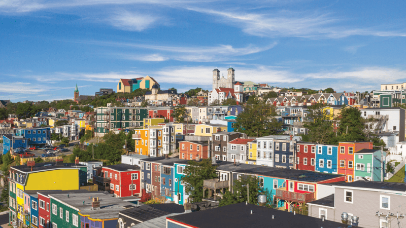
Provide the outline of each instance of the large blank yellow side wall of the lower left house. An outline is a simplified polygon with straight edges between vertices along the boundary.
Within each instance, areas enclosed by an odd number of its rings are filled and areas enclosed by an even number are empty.
[[[79,169],[58,169],[30,173],[25,184],[26,191],[73,189],[79,189]]]

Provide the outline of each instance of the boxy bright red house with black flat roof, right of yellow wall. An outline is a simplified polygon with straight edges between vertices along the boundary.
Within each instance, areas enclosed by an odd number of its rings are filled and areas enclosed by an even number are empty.
[[[140,196],[140,170],[139,166],[126,164],[101,166],[101,177],[93,175],[93,183],[100,182],[97,178],[110,180],[110,193],[114,197]]]

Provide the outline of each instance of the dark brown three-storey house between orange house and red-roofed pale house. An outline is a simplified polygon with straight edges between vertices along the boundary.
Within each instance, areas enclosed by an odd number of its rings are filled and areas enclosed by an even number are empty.
[[[236,138],[247,138],[246,134],[240,132],[215,132],[212,134],[212,151],[213,155],[210,157],[215,157],[217,161],[227,161],[228,153],[228,142]]]

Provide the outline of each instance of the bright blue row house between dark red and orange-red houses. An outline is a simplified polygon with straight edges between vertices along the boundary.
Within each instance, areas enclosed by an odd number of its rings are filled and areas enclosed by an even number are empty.
[[[338,145],[316,145],[316,165],[315,171],[322,173],[337,174]]]

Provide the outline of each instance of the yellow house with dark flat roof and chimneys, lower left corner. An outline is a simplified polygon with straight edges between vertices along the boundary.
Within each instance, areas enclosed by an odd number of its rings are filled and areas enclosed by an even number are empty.
[[[85,166],[65,166],[62,162],[60,165],[37,163],[32,166],[32,169],[27,165],[10,167],[9,184],[13,191],[10,191],[9,196],[17,204],[16,217],[24,220],[24,191],[79,189],[81,167]],[[87,179],[87,173],[85,176]]]

